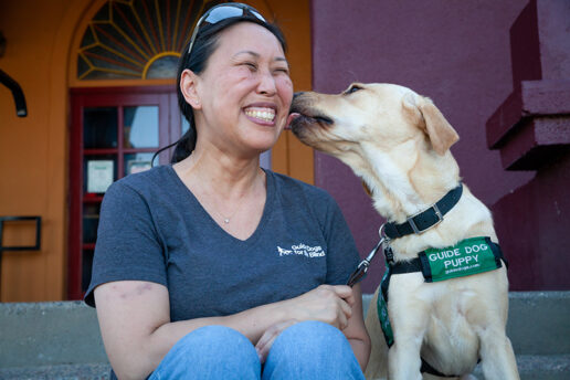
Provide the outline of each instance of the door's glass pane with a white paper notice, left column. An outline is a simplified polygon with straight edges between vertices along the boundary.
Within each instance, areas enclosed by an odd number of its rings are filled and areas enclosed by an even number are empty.
[[[116,155],[85,156],[83,191],[86,197],[103,194],[115,180],[117,180]]]

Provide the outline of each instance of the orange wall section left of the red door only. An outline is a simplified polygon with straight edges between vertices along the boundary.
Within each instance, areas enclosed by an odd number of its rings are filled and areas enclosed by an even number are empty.
[[[0,215],[43,218],[41,251],[3,254],[2,302],[64,295],[67,48],[73,20],[87,3],[19,0],[0,6],[8,41],[0,67],[22,86],[29,112],[18,118],[11,93],[0,87]],[[18,231],[11,230],[4,239],[15,243]]]

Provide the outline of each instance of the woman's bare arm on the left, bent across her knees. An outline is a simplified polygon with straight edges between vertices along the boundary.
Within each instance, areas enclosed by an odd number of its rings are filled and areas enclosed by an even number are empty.
[[[163,285],[120,281],[95,288],[105,350],[119,379],[145,379],[179,339],[208,325],[234,328],[254,345],[270,326],[288,319],[321,320],[342,328],[353,324],[349,321],[353,319],[351,307],[345,300],[351,296],[347,286],[321,285],[299,297],[231,316],[171,323],[168,289]],[[361,319],[361,312],[359,315]],[[350,339],[358,341],[358,328],[349,331]]]

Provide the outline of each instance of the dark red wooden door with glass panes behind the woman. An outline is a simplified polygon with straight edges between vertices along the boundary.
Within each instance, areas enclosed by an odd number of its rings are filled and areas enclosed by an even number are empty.
[[[183,126],[173,86],[73,88],[71,107],[67,297],[81,299],[106,188],[150,168],[154,152],[178,140]]]

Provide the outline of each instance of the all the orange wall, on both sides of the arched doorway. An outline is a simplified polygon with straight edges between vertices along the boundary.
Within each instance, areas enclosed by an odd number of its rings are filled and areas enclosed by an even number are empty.
[[[0,28],[8,41],[0,68],[19,82],[29,112],[25,118],[17,117],[10,91],[0,86],[0,215],[43,219],[41,251],[3,254],[1,302],[59,300],[66,294],[68,87],[80,85],[68,81],[73,77],[68,74],[75,70],[75,36],[101,3],[0,2]],[[310,88],[309,1],[250,3],[266,15],[277,14],[289,44],[295,88]],[[274,148],[273,165],[276,171],[314,182],[313,151],[299,145],[291,131]],[[31,244],[30,229],[9,228],[4,240],[14,245]]]

